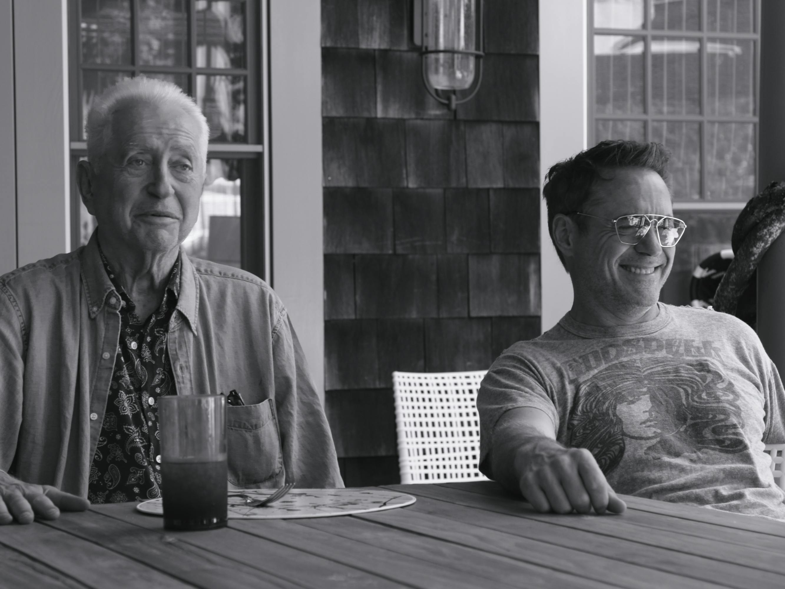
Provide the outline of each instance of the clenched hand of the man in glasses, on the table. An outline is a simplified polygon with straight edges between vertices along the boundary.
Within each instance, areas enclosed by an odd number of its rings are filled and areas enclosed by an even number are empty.
[[[622,514],[626,504],[616,496],[597,460],[586,448],[564,448],[542,437],[532,440],[516,459],[520,492],[531,506],[546,513]]]

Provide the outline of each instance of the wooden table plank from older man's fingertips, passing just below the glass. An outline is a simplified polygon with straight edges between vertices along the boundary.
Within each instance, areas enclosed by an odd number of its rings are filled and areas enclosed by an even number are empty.
[[[64,513],[47,526],[71,536],[97,543],[110,551],[125,554],[149,569],[177,577],[193,587],[300,587],[248,565],[233,562],[214,552],[184,543],[158,532],[140,528],[102,515],[92,509],[84,513]],[[137,567],[141,569],[141,567]],[[105,587],[105,584],[104,586]],[[139,585],[137,585],[139,587]],[[155,587],[155,585],[153,585]]]

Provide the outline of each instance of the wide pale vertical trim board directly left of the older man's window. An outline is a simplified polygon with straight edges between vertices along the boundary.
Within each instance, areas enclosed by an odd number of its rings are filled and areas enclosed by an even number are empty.
[[[18,263],[71,250],[67,0],[14,0]]]

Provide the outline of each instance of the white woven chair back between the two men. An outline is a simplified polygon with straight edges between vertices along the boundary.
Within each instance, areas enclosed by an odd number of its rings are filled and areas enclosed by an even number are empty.
[[[485,370],[393,372],[400,481],[487,481],[477,470],[476,398]]]

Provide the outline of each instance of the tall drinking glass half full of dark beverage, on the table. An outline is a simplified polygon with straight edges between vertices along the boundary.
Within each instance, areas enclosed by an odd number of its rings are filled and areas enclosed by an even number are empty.
[[[164,529],[226,525],[226,399],[159,398]]]

